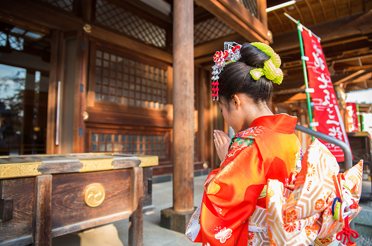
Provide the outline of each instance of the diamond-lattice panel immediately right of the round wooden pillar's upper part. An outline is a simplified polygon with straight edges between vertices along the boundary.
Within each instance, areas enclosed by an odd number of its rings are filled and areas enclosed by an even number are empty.
[[[210,40],[225,37],[235,31],[217,17],[194,25],[194,44],[201,44]]]

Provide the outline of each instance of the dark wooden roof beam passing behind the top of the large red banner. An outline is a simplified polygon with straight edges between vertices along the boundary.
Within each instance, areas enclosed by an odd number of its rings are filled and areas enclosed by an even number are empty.
[[[310,26],[308,28],[314,34],[319,36],[322,39],[322,43],[324,43],[351,36],[367,35],[372,33],[372,29],[370,29],[371,24],[372,11],[367,11],[316,26]],[[297,30],[276,35],[271,47],[276,53],[299,49],[300,42]]]

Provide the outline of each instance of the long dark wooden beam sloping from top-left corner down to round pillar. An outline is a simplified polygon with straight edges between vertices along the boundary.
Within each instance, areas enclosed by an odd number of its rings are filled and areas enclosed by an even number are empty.
[[[25,8],[25,6],[27,6],[27,8]],[[14,19],[40,25],[48,30],[61,30],[65,32],[81,30],[84,24],[86,24],[86,22],[83,22],[77,17],[58,12],[28,0],[3,1],[2,11],[7,12],[9,15],[13,16]],[[39,13],[43,13],[43,15]],[[92,23],[89,25],[92,28],[91,33],[88,34],[89,36],[130,50],[138,50],[140,53],[146,54],[147,56],[172,63],[172,55],[159,48],[114,33],[110,31],[110,28],[102,28]]]

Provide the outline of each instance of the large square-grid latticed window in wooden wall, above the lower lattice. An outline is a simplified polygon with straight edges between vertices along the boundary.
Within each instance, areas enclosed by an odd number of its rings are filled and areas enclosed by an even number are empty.
[[[96,50],[95,100],[165,110],[164,69]]]

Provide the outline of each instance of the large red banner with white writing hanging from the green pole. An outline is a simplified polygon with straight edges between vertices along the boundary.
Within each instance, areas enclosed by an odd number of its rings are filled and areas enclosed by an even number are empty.
[[[304,39],[305,56],[309,58],[306,61],[309,87],[315,90],[314,93],[311,93],[311,96],[314,102],[315,122],[319,124],[316,129],[320,133],[337,138],[349,145],[320,40],[305,30],[302,31],[302,37]],[[320,142],[331,151],[338,162],[344,161],[344,154],[340,147],[322,140]]]

